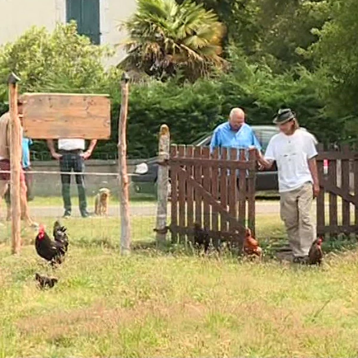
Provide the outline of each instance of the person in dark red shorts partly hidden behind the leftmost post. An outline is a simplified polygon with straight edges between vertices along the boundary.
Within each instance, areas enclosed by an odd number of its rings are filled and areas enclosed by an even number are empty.
[[[22,102],[19,100],[18,113],[21,119]],[[22,128],[21,128],[22,130]],[[21,133],[22,137],[22,133]],[[0,201],[4,198],[6,190],[10,184],[10,113],[6,112],[0,117]],[[30,227],[38,227],[29,215],[26,194],[27,188],[25,184],[25,175],[23,169],[20,172],[20,205],[21,217]],[[9,213],[8,213],[9,214]]]

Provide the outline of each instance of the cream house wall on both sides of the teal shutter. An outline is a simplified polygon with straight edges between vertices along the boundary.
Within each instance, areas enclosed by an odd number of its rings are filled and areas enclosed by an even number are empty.
[[[100,0],[101,44],[114,46],[126,38],[118,26],[135,8],[135,0]],[[52,31],[57,22],[66,21],[66,0],[0,0],[0,9],[0,44],[13,42],[33,25]],[[124,56],[124,50],[117,48],[105,63],[117,64]]]

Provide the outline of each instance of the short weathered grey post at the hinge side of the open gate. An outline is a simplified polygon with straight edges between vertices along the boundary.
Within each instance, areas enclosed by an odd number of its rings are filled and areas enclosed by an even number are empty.
[[[166,239],[166,217],[168,209],[169,167],[160,165],[169,159],[170,132],[166,124],[160,126],[159,131],[159,167],[158,167],[158,204],[156,215],[156,241],[164,242]]]

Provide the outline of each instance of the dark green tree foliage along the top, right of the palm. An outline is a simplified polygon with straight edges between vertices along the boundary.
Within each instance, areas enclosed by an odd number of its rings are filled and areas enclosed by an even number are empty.
[[[182,0],[177,0],[179,3]],[[226,44],[240,45],[251,62],[264,62],[282,73],[296,64],[311,67],[304,57],[329,17],[325,0],[195,0],[213,9],[227,26]]]

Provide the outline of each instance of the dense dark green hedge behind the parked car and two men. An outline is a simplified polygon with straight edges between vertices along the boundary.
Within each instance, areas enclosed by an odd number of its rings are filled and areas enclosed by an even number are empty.
[[[111,139],[100,141],[96,152],[115,156],[121,98],[118,91],[111,96]],[[249,124],[271,124],[277,108],[289,106],[296,111],[300,124],[319,140],[344,139],[340,121],[322,115],[323,105],[308,79],[293,81],[291,74],[273,78],[248,66],[237,73],[194,84],[172,80],[130,86],[128,155],[130,158],[156,155],[158,131],[163,123],[168,124],[174,142],[190,144],[226,121],[231,108],[237,106],[245,108]],[[6,107],[0,104],[0,109]],[[48,152],[44,141],[36,141],[33,150]]]

